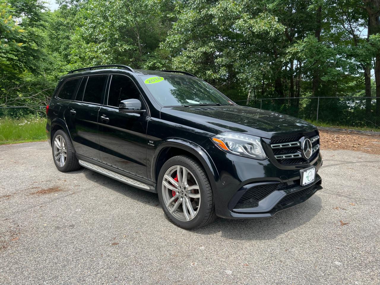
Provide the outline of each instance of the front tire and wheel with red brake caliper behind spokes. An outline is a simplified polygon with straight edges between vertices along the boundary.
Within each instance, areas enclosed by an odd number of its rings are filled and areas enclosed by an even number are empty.
[[[180,181],[185,181],[182,176],[187,177],[185,184],[182,184],[184,187],[178,185]],[[178,182],[178,186],[173,180]],[[216,218],[214,198],[207,174],[198,161],[191,157],[178,155],[164,163],[158,175],[157,192],[166,217],[180,228],[199,228],[212,223]],[[168,203],[169,206],[166,206]]]

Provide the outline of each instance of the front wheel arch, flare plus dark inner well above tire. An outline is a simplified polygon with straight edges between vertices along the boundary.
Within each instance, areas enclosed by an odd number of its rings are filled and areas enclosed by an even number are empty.
[[[157,147],[151,167],[154,182],[157,182],[158,174],[165,161],[176,155],[189,155],[199,161],[210,179],[212,188],[216,186],[215,181],[218,180],[219,174],[206,150],[194,142],[177,138],[169,138]]]

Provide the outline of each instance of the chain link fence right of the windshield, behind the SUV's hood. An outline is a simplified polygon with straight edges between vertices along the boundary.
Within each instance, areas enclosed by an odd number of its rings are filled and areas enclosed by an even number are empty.
[[[242,106],[287,114],[316,125],[380,129],[374,97],[296,97],[235,101]]]

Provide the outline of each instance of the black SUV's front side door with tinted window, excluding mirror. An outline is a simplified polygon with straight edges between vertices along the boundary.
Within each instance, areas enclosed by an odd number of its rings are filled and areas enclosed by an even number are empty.
[[[99,141],[101,161],[129,173],[147,178],[147,111],[144,114],[120,113],[120,101],[139,99],[147,110],[135,82],[128,76],[114,74],[100,108]]]

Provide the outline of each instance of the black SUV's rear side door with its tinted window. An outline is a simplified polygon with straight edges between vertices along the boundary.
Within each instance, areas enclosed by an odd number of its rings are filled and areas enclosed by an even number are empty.
[[[77,154],[100,160],[98,112],[105,94],[108,75],[82,78],[66,112],[66,122]]]

